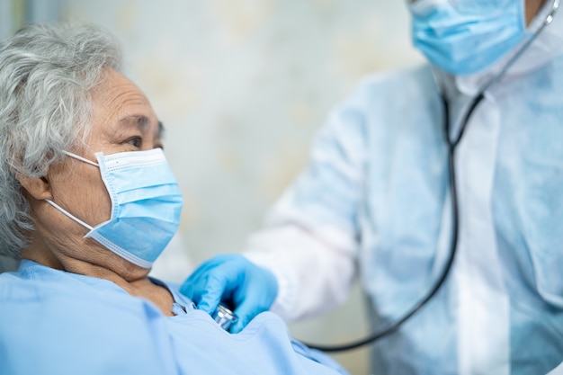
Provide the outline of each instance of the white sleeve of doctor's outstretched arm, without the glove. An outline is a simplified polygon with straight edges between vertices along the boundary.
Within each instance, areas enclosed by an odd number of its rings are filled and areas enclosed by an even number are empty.
[[[286,320],[344,302],[360,240],[367,100],[359,90],[331,112],[306,169],[249,237],[246,256],[271,270],[279,293],[272,310]]]

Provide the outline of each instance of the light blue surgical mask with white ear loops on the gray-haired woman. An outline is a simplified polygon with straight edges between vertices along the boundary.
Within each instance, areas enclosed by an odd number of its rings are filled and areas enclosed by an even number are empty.
[[[65,151],[67,156],[100,168],[112,200],[112,216],[95,227],[53,201],[49,204],[90,231],[113,253],[150,268],[168,245],[180,223],[182,193],[161,148],[95,156],[98,163]]]

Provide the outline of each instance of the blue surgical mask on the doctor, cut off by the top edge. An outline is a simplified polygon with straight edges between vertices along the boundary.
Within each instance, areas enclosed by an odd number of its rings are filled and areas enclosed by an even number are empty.
[[[491,66],[527,36],[524,0],[417,0],[409,8],[415,47],[453,75]]]

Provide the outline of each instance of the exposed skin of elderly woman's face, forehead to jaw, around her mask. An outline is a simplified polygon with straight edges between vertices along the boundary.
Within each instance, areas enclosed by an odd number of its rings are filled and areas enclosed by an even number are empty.
[[[92,93],[92,103],[87,146],[68,151],[97,163],[96,152],[110,155],[162,147],[162,124],[145,94],[121,73],[108,69],[107,78]],[[66,157],[64,162],[51,166],[46,177],[51,200],[77,219],[92,227],[110,219],[112,202],[97,166]],[[55,244],[55,252],[88,263],[102,260],[106,266],[123,263],[93,239],[84,238],[87,228],[49,205],[42,207],[38,211],[38,228]]]

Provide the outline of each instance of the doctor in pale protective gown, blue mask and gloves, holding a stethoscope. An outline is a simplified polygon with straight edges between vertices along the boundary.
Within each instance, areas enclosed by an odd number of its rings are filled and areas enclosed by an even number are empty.
[[[354,277],[380,374],[545,374],[563,362],[563,11],[557,0],[416,0],[430,65],[366,77],[244,256],[183,293],[242,326],[342,303]],[[455,256],[454,256],[455,255]],[[451,267],[449,263],[451,262]],[[447,277],[446,277],[447,276]],[[556,370],[557,371],[557,370]],[[560,366],[563,372],[563,366]]]

